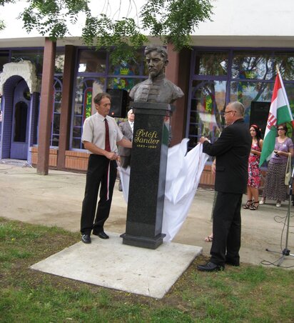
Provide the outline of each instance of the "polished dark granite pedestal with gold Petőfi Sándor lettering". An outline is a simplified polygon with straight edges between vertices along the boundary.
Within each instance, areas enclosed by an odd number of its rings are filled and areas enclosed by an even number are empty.
[[[131,174],[126,233],[123,244],[156,249],[161,233],[166,184],[166,163],[171,106],[132,102],[133,129]]]

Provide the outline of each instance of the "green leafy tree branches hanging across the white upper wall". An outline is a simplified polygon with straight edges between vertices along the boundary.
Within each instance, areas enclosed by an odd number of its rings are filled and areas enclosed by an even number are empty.
[[[136,8],[136,0],[119,1],[122,8]],[[0,0],[0,5],[14,0]],[[173,43],[177,51],[189,47],[190,34],[201,21],[210,20],[210,0],[146,0],[135,18],[115,19],[103,9],[111,7],[110,0],[98,0],[101,14],[93,16],[88,0],[28,0],[28,6],[19,15],[26,31],[38,31],[52,40],[69,34],[69,25],[85,19],[81,31],[88,46],[116,47],[113,55],[129,56],[148,43],[148,36],[160,38],[163,44]],[[113,3],[112,3],[113,4]],[[81,22],[81,21],[79,21]],[[131,51],[130,51],[131,50]]]

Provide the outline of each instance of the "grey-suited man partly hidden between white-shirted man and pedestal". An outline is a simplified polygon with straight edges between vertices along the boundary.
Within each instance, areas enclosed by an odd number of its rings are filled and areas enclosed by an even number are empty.
[[[128,110],[128,121],[121,122],[118,124],[123,136],[132,141],[133,139],[133,123],[135,121],[135,114],[133,109]],[[123,168],[127,168],[131,165],[131,149],[125,148],[123,146],[118,147],[118,155],[120,156],[120,165]],[[123,189],[121,187],[121,179],[119,180],[118,190],[121,192]]]

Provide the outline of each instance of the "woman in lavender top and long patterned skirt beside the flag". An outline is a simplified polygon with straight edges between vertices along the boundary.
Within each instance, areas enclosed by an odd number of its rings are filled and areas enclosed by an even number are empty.
[[[278,136],[275,138],[274,154],[268,163],[268,172],[263,189],[263,199],[260,205],[265,203],[265,199],[275,199],[276,207],[281,206],[285,201],[287,194],[287,185],[285,185],[285,172],[289,154],[293,156],[293,141],[286,136],[286,124],[278,125]]]

